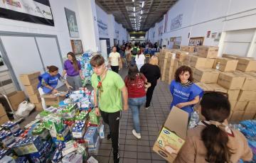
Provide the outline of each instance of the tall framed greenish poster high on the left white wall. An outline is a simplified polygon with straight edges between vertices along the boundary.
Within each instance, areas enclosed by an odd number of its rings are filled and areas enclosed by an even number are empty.
[[[65,8],[65,15],[68,22],[70,38],[79,38],[78,23],[76,21],[75,12]]]

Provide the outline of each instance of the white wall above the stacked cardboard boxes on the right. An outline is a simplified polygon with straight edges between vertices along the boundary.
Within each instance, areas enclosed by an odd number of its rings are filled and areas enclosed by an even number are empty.
[[[182,26],[171,30],[171,20],[183,14]],[[256,28],[256,1],[255,0],[180,0],[169,9],[164,16],[165,24],[167,16],[167,28],[161,38],[182,37],[181,45],[188,45],[188,33],[190,38],[205,37],[203,45],[219,45],[214,38],[206,38],[207,31],[222,33],[230,30],[244,30]],[[157,23],[156,23],[157,25]],[[149,29],[149,40],[152,38],[156,26]],[[238,54],[239,55],[239,54]],[[244,55],[244,54],[240,54]],[[256,57],[256,54],[253,54]]]

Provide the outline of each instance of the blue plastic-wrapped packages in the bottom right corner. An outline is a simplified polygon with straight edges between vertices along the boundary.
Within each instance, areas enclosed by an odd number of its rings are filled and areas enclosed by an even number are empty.
[[[245,135],[252,149],[253,157],[251,162],[256,162],[256,120],[243,120],[240,123],[230,125],[230,127],[240,130]]]

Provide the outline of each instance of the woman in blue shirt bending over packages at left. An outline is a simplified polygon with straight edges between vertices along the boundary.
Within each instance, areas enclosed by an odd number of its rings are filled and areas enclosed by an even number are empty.
[[[55,87],[58,85],[58,80],[63,81],[68,89],[72,89],[73,87],[68,84],[68,82],[61,77],[58,73],[58,67],[49,66],[47,67],[48,72],[41,74],[38,77],[39,84],[38,84],[38,91],[40,95],[43,94],[56,94],[58,93]],[[44,98],[41,98],[43,109],[46,109],[46,101]]]

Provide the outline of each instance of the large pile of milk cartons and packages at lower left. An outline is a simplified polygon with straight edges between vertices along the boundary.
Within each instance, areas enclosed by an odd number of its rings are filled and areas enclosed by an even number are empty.
[[[92,109],[92,94],[85,88],[73,91],[58,106],[41,111],[25,130],[12,122],[1,125],[0,162],[82,163],[97,155],[105,134],[102,118]]]

